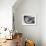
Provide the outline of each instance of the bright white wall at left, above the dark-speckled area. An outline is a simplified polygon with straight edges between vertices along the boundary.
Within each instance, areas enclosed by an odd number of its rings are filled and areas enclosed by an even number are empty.
[[[0,0],[0,27],[12,28],[12,6],[16,0]]]

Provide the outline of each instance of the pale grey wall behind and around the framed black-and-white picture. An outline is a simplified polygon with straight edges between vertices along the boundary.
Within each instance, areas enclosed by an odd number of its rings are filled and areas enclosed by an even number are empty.
[[[41,46],[41,0],[23,0],[17,8],[13,7],[13,11],[18,32],[23,33],[24,39],[31,39],[36,46]],[[25,13],[36,16],[36,25],[22,25],[22,16]]]

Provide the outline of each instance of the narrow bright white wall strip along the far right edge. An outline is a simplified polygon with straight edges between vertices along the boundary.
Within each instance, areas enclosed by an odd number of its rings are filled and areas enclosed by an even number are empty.
[[[41,1],[41,42],[42,46],[46,46],[46,0]]]

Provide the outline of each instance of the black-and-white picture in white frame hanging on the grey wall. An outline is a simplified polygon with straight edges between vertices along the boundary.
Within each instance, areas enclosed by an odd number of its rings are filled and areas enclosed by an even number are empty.
[[[23,15],[22,16],[22,25],[36,25],[36,16]]]

